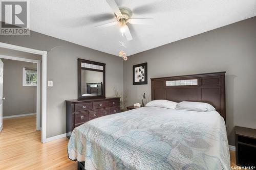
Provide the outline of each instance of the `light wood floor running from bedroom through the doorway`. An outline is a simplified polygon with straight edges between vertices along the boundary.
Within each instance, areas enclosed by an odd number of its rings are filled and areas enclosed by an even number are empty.
[[[77,169],[67,155],[67,138],[41,143],[36,131],[36,117],[4,119],[0,133],[0,169]],[[236,166],[235,152],[230,151],[231,166]]]

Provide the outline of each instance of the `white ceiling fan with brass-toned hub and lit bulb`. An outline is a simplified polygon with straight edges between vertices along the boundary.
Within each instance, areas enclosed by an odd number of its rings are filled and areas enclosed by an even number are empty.
[[[95,26],[95,28],[106,28],[114,25],[120,24],[120,31],[125,35],[128,41],[133,39],[132,34],[127,26],[127,23],[131,24],[140,24],[140,25],[150,25],[153,18],[131,18],[133,13],[132,10],[126,7],[118,7],[114,0],[106,0],[109,4],[110,8],[113,10],[116,21],[104,23],[99,26]]]

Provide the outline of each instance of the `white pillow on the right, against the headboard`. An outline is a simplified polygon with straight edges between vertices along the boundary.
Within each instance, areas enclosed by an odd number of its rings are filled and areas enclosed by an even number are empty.
[[[176,109],[179,110],[190,110],[190,111],[198,111],[198,112],[205,112],[205,111],[212,111],[215,110],[213,106],[208,103],[203,102],[180,102],[177,104]]]

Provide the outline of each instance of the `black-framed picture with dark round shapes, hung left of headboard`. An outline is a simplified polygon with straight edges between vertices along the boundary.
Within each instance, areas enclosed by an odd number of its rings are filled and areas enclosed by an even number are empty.
[[[147,63],[133,66],[133,85],[147,84]]]

